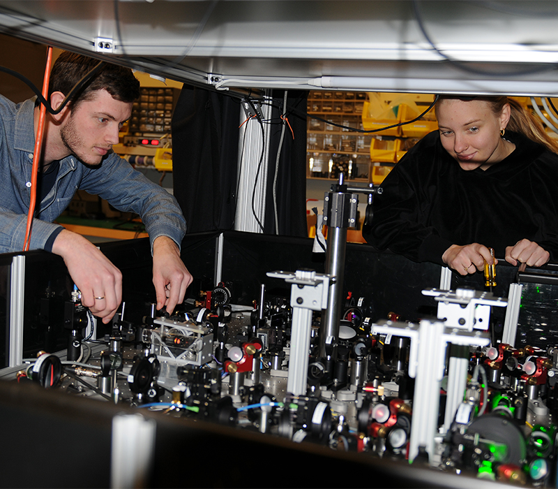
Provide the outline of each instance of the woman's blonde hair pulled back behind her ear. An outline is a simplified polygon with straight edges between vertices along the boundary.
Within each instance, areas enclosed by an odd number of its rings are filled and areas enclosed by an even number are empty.
[[[494,115],[499,116],[502,113],[504,105],[508,103],[511,108],[510,120],[508,122],[507,130],[513,131],[515,133],[522,133],[527,136],[527,138],[536,141],[536,143],[543,145],[550,152],[558,154],[558,141],[555,138],[551,138],[546,133],[543,124],[538,120],[529,110],[524,108],[518,101],[513,98],[506,96],[480,96],[480,97],[460,97],[460,96],[440,96],[437,100],[436,105],[442,100],[448,98],[458,98],[459,100],[469,101],[469,100],[483,100],[488,102],[490,109]]]

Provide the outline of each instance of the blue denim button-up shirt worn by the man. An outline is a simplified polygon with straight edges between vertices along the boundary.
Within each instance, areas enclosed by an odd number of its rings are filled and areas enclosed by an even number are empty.
[[[0,253],[21,251],[29,210],[35,134],[35,98],[15,104],[0,95]],[[165,235],[180,246],[186,221],[174,196],[151,182],[117,154],[111,153],[97,168],[84,166],[75,156],[60,160],[56,182],[36,204],[29,249],[44,249],[61,226],[59,217],[75,191],[98,195],[122,212],[140,214],[153,240]]]

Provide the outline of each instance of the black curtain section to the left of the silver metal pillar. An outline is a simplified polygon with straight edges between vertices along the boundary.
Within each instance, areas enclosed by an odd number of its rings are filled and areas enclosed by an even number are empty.
[[[240,104],[184,85],[172,117],[172,177],[188,233],[232,229]]]

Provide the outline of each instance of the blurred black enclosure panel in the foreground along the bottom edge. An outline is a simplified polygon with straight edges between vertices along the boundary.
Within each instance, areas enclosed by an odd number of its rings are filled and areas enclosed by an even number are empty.
[[[137,413],[156,421],[149,488],[469,488],[478,483],[416,463],[0,381],[0,487],[110,487],[112,418]]]

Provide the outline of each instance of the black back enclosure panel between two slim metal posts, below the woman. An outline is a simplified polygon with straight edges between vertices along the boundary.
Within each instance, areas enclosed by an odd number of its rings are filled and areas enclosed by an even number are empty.
[[[223,254],[223,281],[230,286],[232,302],[241,305],[251,305],[259,297],[260,284],[266,284],[267,294],[290,297],[290,286],[284,280],[267,277],[266,272],[310,269],[324,273],[325,268],[325,254],[312,253],[310,238],[227,231]],[[345,297],[350,292],[356,298],[366,298],[372,321],[386,319],[389,312],[399,314],[403,320],[418,321],[436,314],[436,301],[421,291],[439,288],[441,270],[434,263],[416,263],[369,245],[347,243],[343,291]],[[499,261],[493,290],[497,297],[507,297],[517,270]],[[453,272],[451,288],[484,291],[484,282],[481,272],[467,277]],[[495,314],[503,318],[502,311]]]

